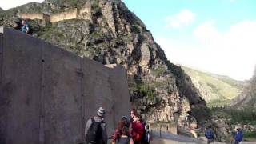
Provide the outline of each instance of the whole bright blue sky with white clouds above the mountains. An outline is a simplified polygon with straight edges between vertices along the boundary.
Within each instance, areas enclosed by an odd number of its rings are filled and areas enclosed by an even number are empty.
[[[8,9],[42,0],[8,0]],[[238,80],[256,64],[255,0],[122,0],[142,19],[170,62]]]

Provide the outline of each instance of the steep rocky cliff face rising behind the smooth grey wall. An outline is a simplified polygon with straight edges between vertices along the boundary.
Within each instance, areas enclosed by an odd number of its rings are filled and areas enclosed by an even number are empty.
[[[149,122],[198,122],[209,117],[206,102],[180,66],[169,62],[145,24],[120,0],[46,0],[0,12],[0,25],[20,28],[19,13],[57,14],[90,7],[61,22],[28,20],[31,34],[103,64],[118,63],[128,73],[130,101]]]

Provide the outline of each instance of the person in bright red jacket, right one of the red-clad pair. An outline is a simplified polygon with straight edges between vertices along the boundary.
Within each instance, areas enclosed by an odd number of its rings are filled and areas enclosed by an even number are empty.
[[[140,114],[134,115],[134,121],[131,123],[132,131],[131,136],[134,140],[134,144],[142,144],[142,138],[144,133],[144,126],[142,124],[142,116]]]

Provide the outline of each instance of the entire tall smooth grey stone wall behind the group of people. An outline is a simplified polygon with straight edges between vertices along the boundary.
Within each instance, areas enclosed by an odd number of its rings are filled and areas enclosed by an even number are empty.
[[[130,110],[122,66],[103,66],[19,31],[0,29],[0,143],[80,142],[98,106],[106,109],[110,136]]]

